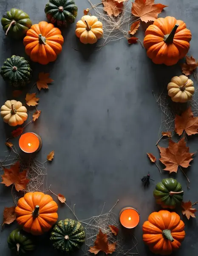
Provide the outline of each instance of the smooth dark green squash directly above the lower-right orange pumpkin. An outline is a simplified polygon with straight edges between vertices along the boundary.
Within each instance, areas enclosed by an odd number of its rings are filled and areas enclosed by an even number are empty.
[[[156,185],[153,195],[156,198],[156,203],[160,204],[162,208],[174,209],[181,204],[184,191],[177,180],[167,178]]]

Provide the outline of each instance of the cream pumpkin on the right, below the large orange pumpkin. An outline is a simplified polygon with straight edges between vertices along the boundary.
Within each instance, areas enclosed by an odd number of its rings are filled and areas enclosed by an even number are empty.
[[[187,76],[174,76],[167,86],[168,95],[173,102],[187,102],[195,92],[193,81]]]

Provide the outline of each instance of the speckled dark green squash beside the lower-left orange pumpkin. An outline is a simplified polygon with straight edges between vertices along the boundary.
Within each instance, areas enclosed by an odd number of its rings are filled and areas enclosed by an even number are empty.
[[[65,219],[54,226],[50,240],[53,241],[54,248],[64,252],[72,252],[79,249],[85,242],[85,231],[80,222]]]

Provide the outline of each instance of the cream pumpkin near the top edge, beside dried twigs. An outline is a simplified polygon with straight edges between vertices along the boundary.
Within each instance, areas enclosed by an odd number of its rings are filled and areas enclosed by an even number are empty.
[[[103,36],[102,22],[96,16],[84,15],[76,23],[76,36],[83,44],[95,44]]]

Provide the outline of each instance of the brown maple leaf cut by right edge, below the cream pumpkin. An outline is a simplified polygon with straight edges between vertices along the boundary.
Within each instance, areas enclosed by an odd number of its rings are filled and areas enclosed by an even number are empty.
[[[187,108],[181,116],[175,116],[175,132],[181,135],[183,132],[188,135],[198,133],[198,117],[194,117],[191,108]]]

